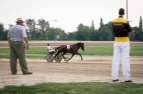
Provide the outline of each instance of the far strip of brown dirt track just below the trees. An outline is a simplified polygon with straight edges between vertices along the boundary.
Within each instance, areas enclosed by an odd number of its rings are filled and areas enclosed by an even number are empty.
[[[30,46],[51,46],[70,45],[77,42],[84,42],[85,46],[112,46],[114,41],[29,41]],[[130,42],[131,46],[143,46],[143,42]],[[7,41],[0,41],[0,47],[8,46]]]

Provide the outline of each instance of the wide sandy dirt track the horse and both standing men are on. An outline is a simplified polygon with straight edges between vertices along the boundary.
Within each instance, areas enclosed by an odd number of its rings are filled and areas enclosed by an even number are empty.
[[[102,45],[106,46],[106,43]],[[2,47],[2,44],[0,46]],[[112,56],[83,56],[83,59],[81,61],[79,56],[74,56],[68,63],[64,61],[47,63],[46,60],[27,59],[29,71],[33,72],[32,75],[22,75],[19,63],[17,75],[11,75],[9,60],[0,59],[0,88],[7,85],[33,85],[41,82],[112,82]],[[130,63],[131,79],[134,83],[143,84],[143,57],[131,57]],[[119,82],[124,81],[121,66],[119,80]]]

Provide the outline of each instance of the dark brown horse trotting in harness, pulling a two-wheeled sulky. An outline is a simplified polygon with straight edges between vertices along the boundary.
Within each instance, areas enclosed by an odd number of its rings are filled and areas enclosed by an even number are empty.
[[[64,59],[65,59],[64,55],[65,55],[66,53],[71,53],[71,54],[72,54],[71,58],[69,58],[69,59],[66,60],[66,61],[69,61],[70,59],[72,59],[72,57],[73,57],[75,54],[80,55],[81,60],[83,60],[81,54],[78,53],[78,50],[79,50],[79,48],[81,48],[82,51],[84,51],[84,43],[78,42],[78,43],[76,43],[76,44],[69,45],[69,46],[70,46],[70,48],[67,48],[67,45],[59,46],[59,47],[57,48],[58,50],[57,50],[56,55],[54,56],[54,59],[55,59],[56,56],[59,55],[60,53],[62,53],[62,57],[63,57]]]

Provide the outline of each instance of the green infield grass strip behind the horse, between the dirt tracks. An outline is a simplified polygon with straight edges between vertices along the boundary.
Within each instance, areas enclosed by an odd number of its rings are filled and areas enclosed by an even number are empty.
[[[9,48],[0,48],[0,58],[9,58]],[[112,46],[86,46],[85,51],[79,49],[79,53],[82,55],[100,55],[100,56],[112,56]],[[44,59],[47,54],[45,47],[31,47],[26,50],[27,58],[40,58]],[[143,46],[131,46],[131,56],[143,56]]]

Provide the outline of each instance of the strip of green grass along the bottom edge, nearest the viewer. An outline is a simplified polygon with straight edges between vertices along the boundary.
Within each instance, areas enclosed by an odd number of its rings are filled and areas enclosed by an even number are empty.
[[[143,84],[135,83],[42,83],[32,86],[6,86],[0,94],[143,94]]]

